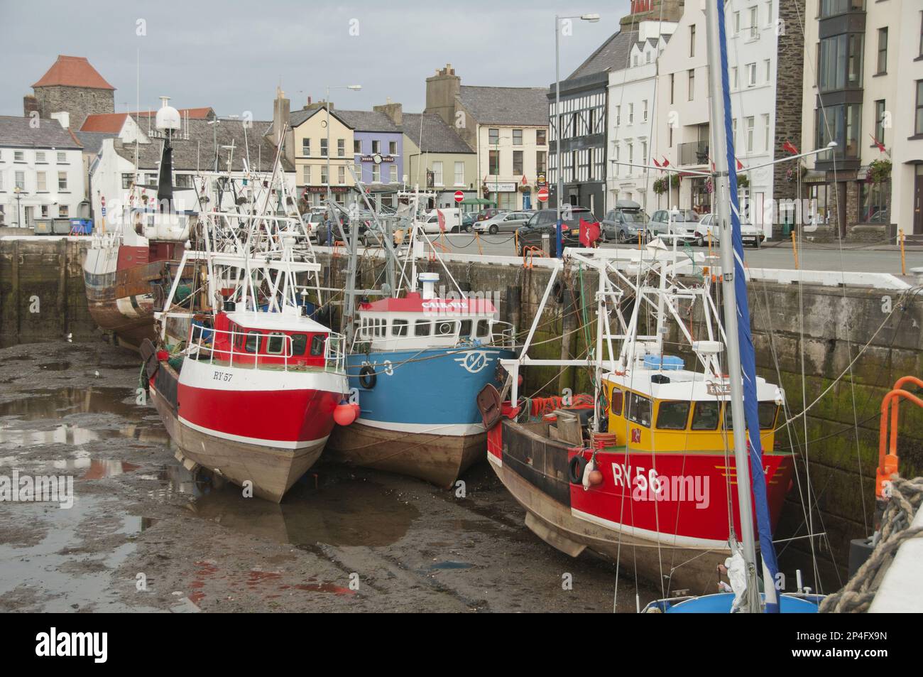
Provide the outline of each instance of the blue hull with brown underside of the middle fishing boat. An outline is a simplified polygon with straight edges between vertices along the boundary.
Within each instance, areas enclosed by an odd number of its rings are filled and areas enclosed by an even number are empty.
[[[347,357],[360,416],[330,436],[330,458],[450,487],[484,458],[476,395],[497,375],[497,348],[382,351]],[[359,370],[375,369],[372,387]]]

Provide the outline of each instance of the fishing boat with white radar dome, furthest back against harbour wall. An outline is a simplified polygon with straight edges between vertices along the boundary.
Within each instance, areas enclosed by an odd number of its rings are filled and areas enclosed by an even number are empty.
[[[144,339],[155,337],[155,285],[171,284],[198,218],[196,212],[174,209],[172,140],[181,135],[182,120],[167,101],[162,97],[155,118],[162,138],[160,173],[153,187],[156,202],[151,206],[148,199],[132,194],[130,206],[110,214],[116,229],[92,236],[83,262],[93,321],[103,332],[111,333],[115,343],[136,349]]]

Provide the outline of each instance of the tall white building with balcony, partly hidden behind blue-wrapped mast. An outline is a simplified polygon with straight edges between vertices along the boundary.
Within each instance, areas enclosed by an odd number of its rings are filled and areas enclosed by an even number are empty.
[[[725,10],[737,174],[743,176],[741,216],[745,222],[761,224],[767,237],[773,235],[774,212],[766,212],[768,219],[762,216],[773,204],[777,173],[772,166],[749,167],[770,162],[786,140],[778,138],[775,119],[781,93],[776,78],[778,16],[778,0],[730,0]],[[653,194],[652,180],[648,212],[654,206],[712,211],[711,180],[693,174],[711,171],[714,160],[707,60],[705,13],[700,3],[689,3],[657,63],[656,129],[651,139],[652,160],[665,160],[688,174],[680,172],[678,186],[672,185],[676,179],[669,179],[671,185],[659,196]],[[799,91],[800,83],[796,86]],[[610,101],[616,96],[610,91]],[[637,102],[635,106],[637,111]]]

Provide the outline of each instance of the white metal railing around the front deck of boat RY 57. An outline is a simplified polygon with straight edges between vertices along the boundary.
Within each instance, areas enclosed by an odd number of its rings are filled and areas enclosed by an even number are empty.
[[[292,336],[282,332],[260,331],[259,346],[264,344],[267,348],[275,341],[282,341],[279,352],[259,349],[247,350],[247,339],[253,331],[226,331],[203,326],[193,320],[189,328],[189,341],[186,354],[191,359],[208,362],[210,365],[218,363],[227,367],[246,369],[271,369],[278,371],[303,371],[308,367],[326,368],[336,371],[345,369],[346,356],[343,350],[345,340],[342,334],[330,332],[324,342],[323,355],[294,355]],[[226,340],[216,341],[216,337],[226,337]],[[242,338],[242,345],[237,345],[237,339]],[[305,346],[308,350],[310,345]],[[312,364],[308,360],[317,360]]]

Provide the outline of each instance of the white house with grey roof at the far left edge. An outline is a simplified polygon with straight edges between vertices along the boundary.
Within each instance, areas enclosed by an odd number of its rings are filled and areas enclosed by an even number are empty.
[[[0,225],[87,218],[84,189],[83,151],[61,122],[0,115]]]

